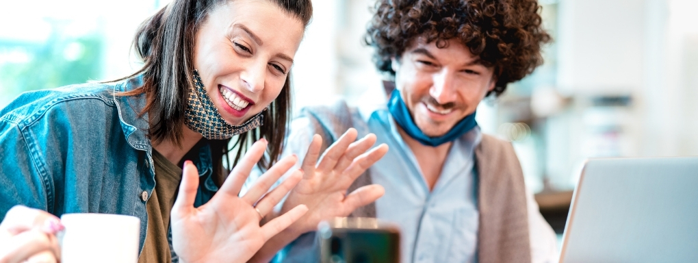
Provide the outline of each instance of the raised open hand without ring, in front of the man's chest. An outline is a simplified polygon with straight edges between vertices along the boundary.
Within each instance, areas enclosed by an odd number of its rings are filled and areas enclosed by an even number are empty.
[[[354,180],[378,162],[388,150],[385,144],[369,150],[376,143],[374,134],[369,134],[359,141],[355,141],[356,137],[356,129],[346,131],[325,150],[318,164],[322,137],[317,134],[313,136],[302,164],[303,179],[288,194],[281,214],[301,204],[306,205],[309,211],[267,242],[251,262],[269,262],[277,251],[298,236],[316,230],[320,221],[350,215],[356,208],[371,204],[383,196],[385,190],[380,185],[366,185],[347,194]],[[272,214],[265,219],[269,220],[274,216]]]

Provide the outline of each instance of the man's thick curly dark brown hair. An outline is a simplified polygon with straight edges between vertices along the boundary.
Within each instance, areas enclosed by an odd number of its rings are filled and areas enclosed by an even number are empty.
[[[458,38],[484,66],[494,67],[498,96],[543,63],[541,46],[551,41],[535,0],[380,0],[375,8],[365,41],[376,48],[378,70],[393,77],[390,60],[416,38],[436,41],[438,48]]]

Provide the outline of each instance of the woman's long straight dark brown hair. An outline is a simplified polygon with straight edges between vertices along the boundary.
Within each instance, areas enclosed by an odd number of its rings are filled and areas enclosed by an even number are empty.
[[[182,126],[185,119],[185,104],[188,87],[193,85],[193,48],[195,33],[205,22],[207,15],[218,6],[234,0],[174,0],[149,17],[136,32],[133,48],[143,60],[144,66],[131,76],[142,75],[143,85],[121,96],[146,94],[149,98],[142,113],[149,113],[151,140],[171,140],[181,145]],[[307,27],[313,13],[310,0],[268,0],[300,20]],[[290,71],[281,90],[267,111],[264,123],[257,129],[234,137],[237,149],[232,165],[235,166],[253,141],[266,138],[269,141],[265,157],[258,163],[269,169],[281,155],[291,113]],[[230,139],[209,140],[216,173],[223,171],[221,159],[228,157]]]

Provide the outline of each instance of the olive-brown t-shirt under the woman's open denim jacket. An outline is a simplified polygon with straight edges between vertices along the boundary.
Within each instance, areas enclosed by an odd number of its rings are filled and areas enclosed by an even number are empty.
[[[138,263],[170,263],[172,262],[170,243],[168,243],[170,211],[174,206],[174,200],[177,199],[182,170],[155,149],[153,149],[153,162],[155,189],[145,204],[148,212],[148,230]]]

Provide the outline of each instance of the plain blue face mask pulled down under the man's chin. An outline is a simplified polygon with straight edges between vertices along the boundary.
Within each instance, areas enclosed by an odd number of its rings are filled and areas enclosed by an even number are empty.
[[[461,120],[460,122],[456,123],[456,125],[443,136],[426,136],[426,134],[422,133],[422,130],[419,129],[419,127],[417,127],[414,120],[412,120],[410,111],[405,105],[405,101],[403,101],[400,97],[400,92],[398,90],[393,90],[392,94],[390,94],[390,100],[388,101],[388,111],[390,111],[390,114],[395,119],[395,122],[397,122],[397,125],[400,125],[400,127],[410,137],[419,141],[419,143],[432,147],[436,147],[438,145],[442,145],[443,143],[454,141],[456,138],[459,138],[460,136],[466,134],[466,132],[470,131],[475,126],[477,126],[477,122],[475,122],[475,113],[473,113],[466,116],[466,118],[463,118],[463,120]]]

